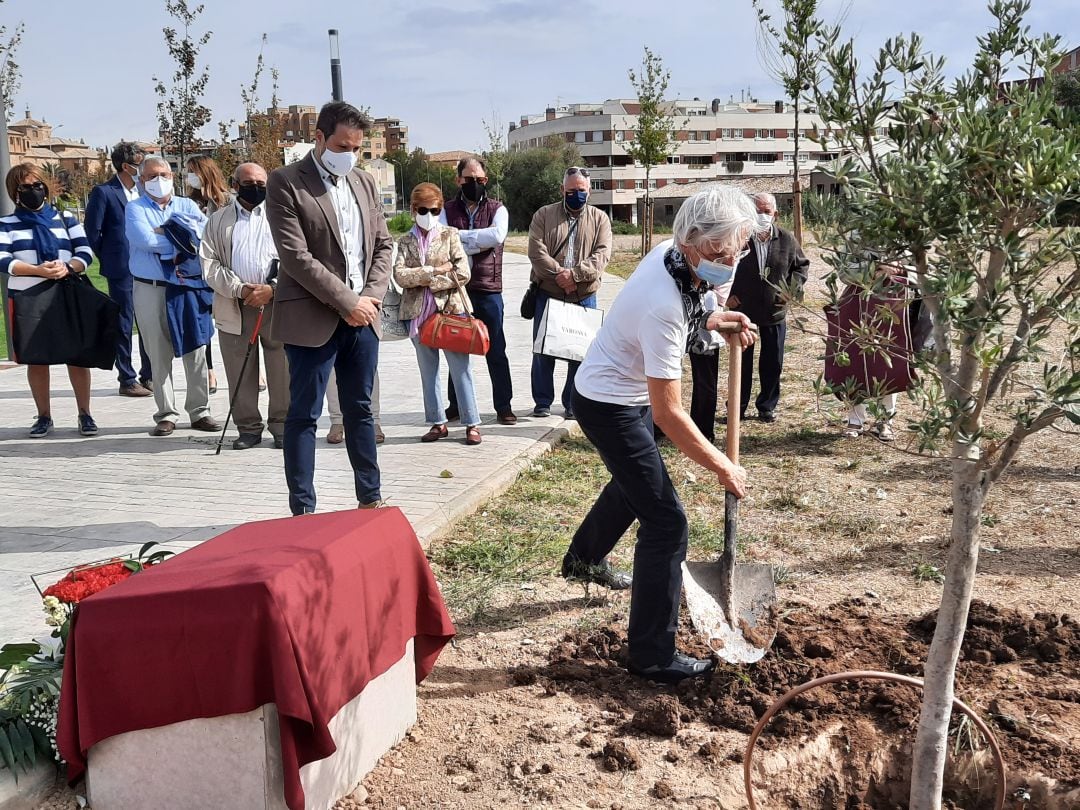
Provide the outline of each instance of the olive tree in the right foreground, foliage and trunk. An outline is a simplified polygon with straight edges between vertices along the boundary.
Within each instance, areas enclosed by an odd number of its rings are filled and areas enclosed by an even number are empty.
[[[840,26],[825,26],[813,90],[825,136],[850,156],[837,171],[846,204],[826,259],[834,296],[838,278],[866,295],[879,288],[873,262],[846,270],[850,254],[872,248],[914,267],[933,318],[907,427],[912,449],[950,467],[953,514],[913,810],[941,807],[987,494],[1030,435],[1055,429],[1075,441],[1080,424],[1080,234],[1055,215],[1080,189],[1080,110],[1055,102],[1062,49],[1025,26],[1029,1],[988,8],[972,66],[954,80],[918,36],[887,41],[864,66]],[[863,332],[874,343],[873,326]]]

